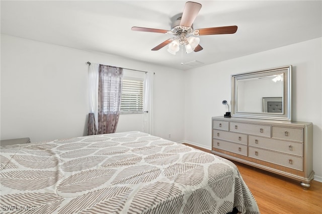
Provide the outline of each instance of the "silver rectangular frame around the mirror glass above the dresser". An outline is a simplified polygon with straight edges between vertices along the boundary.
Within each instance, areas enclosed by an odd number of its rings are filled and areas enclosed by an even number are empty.
[[[256,112],[238,112],[237,111],[237,80],[256,78],[268,75],[275,75],[283,73],[283,110],[282,113],[256,113]],[[231,75],[231,112],[232,117],[240,118],[255,118],[255,119],[268,119],[268,120],[281,120],[291,121],[291,97],[292,97],[292,66],[283,66],[247,73]]]

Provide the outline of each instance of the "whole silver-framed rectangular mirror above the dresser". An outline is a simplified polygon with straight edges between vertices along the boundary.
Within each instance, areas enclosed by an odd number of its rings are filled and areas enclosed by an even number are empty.
[[[290,121],[291,76],[291,65],[231,75],[231,116]]]

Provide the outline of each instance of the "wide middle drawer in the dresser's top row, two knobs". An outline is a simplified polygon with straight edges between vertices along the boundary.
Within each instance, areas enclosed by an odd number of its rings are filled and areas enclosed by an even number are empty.
[[[231,132],[240,132],[264,137],[271,137],[271,126],[269,125],[256,125],[231,122],[229,124],[229,130]]]

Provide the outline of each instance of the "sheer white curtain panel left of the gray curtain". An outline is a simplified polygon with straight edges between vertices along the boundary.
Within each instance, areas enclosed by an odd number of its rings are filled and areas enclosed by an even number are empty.
[[[89,123],[88,123],[89,135],[97,134],[97,128],[98,128],[99,67],[100,67],[100,64],[98,63],[91,63],[89,66],[89,104],[90,104],[90,114],[89,114]]]

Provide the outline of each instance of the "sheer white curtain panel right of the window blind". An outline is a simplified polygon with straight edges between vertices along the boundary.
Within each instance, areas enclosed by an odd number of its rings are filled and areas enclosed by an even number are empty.
[[[143,132],[151,135],[153,135],[153,77],[152,73],[146,73],[143,105]]]

